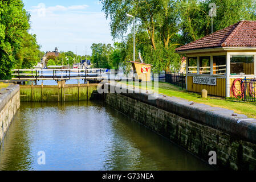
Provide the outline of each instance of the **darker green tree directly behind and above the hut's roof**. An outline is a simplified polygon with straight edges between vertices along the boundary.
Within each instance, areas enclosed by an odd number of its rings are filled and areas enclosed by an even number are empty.
[[[211,34],[210,3],[215,3],[217,16],[213,20],[213,32],[221,30],[239,20],[255,20],[255,1],[250,0],[190,0],[181,1],[180,27],[182,44],[200,39]]]

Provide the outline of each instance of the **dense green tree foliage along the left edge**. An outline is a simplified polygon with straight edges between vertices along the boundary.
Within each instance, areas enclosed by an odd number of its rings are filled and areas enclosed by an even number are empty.
[[[0,1],[0,79],[10,78],[13,68],[32,68],[40,61],[29,20],[21,0]]]

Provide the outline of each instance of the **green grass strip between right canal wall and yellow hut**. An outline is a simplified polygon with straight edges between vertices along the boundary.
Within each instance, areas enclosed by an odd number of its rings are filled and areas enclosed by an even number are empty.
[[[126,82],[122,81],[122,84],[126,84]],[[141,88],[141,83],[133,83],[133,86]],[[142,88],[153,90],[153,88],[151,87],[146,88],[145,86],[142,86]],[[177,86],[174,86],[166,82],[159,82],[159,93],[164,94],[165,96],[174,96],[184,98],[188,101],[230,109],[233,110],[235,113],[245,114],[247,115],[247,117],[256,118],[256,103],[253,102],[243,102],[239,100],[234,100],[233,98],[211,96],[209,96],[207,99],[202,99],[201,95],[198,93],[187,92],[185,89],[182,90],[181,88],[178,88]]]

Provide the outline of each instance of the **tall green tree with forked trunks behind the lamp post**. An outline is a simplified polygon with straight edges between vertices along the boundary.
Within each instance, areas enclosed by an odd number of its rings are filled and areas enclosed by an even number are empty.
[[[143,1],[112,1],[103,0],[103,11],[106,18],[111,19],[111,34],[113,38],[123,38],[133,19],[126,14],[136,17],[136,55],[140,50],[146,63],[151,63],[155,69],[169,69],[169,64],[175,60],[167,61],[160,54],[177,57],[175,46],[179,45],[177,34],[180,31],[178,24],[178,3],[170,0],[143,0]],[[127,60],[131,60],[132,36],[127,39]],[[173,47],[174,46],[174,47]],[[139,50],[138,50],[139,49]],[[168,51],[170,49],[170,51]],[[162,65],[161,65],[162,64]],[[161,66],[160,66],[161,65]]]

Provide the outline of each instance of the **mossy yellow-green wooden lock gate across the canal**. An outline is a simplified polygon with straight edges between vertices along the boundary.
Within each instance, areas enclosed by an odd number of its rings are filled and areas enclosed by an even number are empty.
[[[86,101],[97,94],[97,84],[21,85],[21,102]]]

